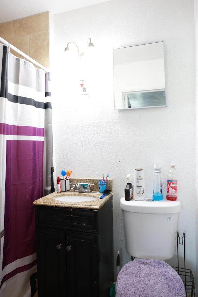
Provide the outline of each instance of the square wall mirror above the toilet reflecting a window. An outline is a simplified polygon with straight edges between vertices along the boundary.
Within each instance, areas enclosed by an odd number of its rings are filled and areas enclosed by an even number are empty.
[[[113,49],[114,110],[166,106],[164,41]]]

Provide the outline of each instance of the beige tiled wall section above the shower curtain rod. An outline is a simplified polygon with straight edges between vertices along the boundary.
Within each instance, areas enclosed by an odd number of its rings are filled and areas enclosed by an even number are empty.
[[[0,24],[0,37],[49,68],[49,12]],[[21,57],[10,50],[12,54]]]

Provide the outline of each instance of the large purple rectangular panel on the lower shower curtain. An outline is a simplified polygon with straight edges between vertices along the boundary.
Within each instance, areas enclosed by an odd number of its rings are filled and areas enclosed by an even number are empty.
[[[43,141],[7,140],[3,268],[36,252],[33,201],[43,196]]]

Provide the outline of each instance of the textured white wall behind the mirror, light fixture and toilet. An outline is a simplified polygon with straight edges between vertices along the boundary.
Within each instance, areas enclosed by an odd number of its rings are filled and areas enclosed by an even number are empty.
[[[163,191],[170,163],[178,171],[182,200],[178,230],[186,234],[186,268],[196,274],[195,36],[193,0],[114,0],[54,16],[54,131],[57,175],[109,173],[114,179],[114,258],[125,251],[119,201],[126,175],[144,168],[152,196],[153,163],[161,163]],[[81,96],[79,77],[63,61],[69,41],[80,52],[91,37],[98,51],[87,81],[90,97]],[[165,41],[167,107],[114,110],[114,48]],[[182,255],[181,255],[182,257]],[[176,257],[168,261],[176,265]],[[115,261],[116,263],[116,261]],[[181,263],[182,266],[182,263]],[[115,273],[116,276],[116,273]]]

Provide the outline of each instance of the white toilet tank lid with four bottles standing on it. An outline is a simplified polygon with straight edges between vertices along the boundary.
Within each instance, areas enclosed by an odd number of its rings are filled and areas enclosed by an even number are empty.
[[[182,209],[181,200],[170,201],[163,199],[160,201],[143,200],[136,201],[134,199],[126,201],[124,197],[120,199],[120,207],[125,211],[135,213],[179,213]]]

